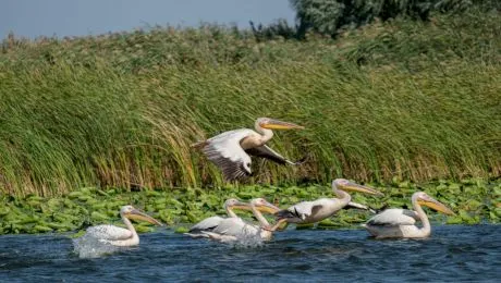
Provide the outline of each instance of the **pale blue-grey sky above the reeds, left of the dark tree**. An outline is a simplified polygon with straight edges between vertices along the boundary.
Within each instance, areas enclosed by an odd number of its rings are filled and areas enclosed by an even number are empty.
[[[198,26],[201,22],[294,23],[289,0],[3,0],[0,38],[86,36],[155,25]]]

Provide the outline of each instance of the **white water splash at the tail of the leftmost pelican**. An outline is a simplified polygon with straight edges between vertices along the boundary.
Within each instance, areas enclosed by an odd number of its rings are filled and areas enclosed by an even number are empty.
[[[73,239],[73,253],[80,258],[100,258],[120,250],[120,247],[99,241],[90,234]]]

